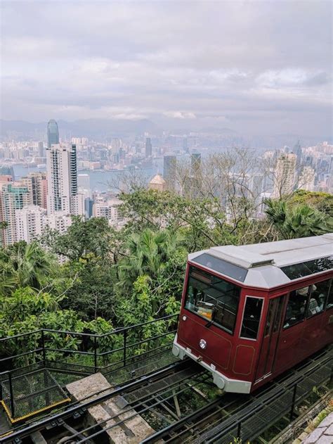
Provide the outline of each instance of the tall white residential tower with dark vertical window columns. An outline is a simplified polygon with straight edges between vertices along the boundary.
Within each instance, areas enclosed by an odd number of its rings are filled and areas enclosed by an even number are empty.
[[[48,215],[62,211],[84,214],[84,202],[77,193],[77,148],[72,144],[55,144],[46,149]],[[80,200],[81,196],[81,200]]]

